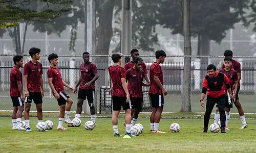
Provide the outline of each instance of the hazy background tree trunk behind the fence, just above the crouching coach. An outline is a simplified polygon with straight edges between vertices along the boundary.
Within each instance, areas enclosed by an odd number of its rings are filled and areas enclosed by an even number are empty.
[[[198,34],[198,55],[208,56],[210,55],[210,39],[204,35]],[[206,68],[208,66],[208,58],[200,58],[200,86],[202,86],[203,79],[206,75]]]

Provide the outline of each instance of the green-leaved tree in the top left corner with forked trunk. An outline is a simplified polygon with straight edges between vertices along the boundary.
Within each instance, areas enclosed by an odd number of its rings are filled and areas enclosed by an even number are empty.
[[[9,35],[13,38],[15,52],[17,54],[24,53],[26,32],[27,32],[27,27],[29,24],[31,24],[33,22],[33,24],[35,24],[35,25],[40,25],[42,23],[52,22],[55,18],[58,18],[61,15],[61,13],[69,12],[71,10],[69,7],[63,7],[63,5],[69,4],[71,2],[72,1],[67,1],[67,0],[0,1],[0,8],[1,8],[0,26],[2,29],[13,27],[13,29],[8,29],[8,32],[9,32]],[[56,6],[58,6],[58,7],[56,7]],[[38,8],[40,8],[40,9],[38,9]],[[20,29],[19,29],[20,22],[26,23],[25,33],[24,33],[24,38],[23,38],[23,45],[21,45],[21,42],[20,42],[21,40],[20,40],[20,35],[19,35],[20,34]],[[60,29],[60,28],[61,28],[61,26],[58,27],[58,29]],[[4,33],[4,32],[6,32],[6,30],[2,30],[2,32]],[[3,33],[1,33],[1,34],[3,34]],[[51,33],[51,31],[50,31],[50,33]]]

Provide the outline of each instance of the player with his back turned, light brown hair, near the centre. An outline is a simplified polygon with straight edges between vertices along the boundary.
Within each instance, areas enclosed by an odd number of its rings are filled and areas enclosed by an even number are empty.
[[[118,132],[118,115],[120,113],[121,107],[125,111],[125,123],[126,123],[126,132],[125,135],[134,137],[131,134],[131,102],[130,94],[127,89],[127,84],[125,80],[125,69],[121,67],[122,59],[120,54],[113,54],[111,56],[114,65],[108,68],[110,73],[110,78],[112,81],[112,88],[110,92],[112,93],[113,101],[113,116],[112,124],[114,130],[114,136],[120,137],[121,135]]]

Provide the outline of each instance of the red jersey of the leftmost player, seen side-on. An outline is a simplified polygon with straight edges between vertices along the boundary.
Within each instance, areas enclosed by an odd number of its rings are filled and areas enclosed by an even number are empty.
[[[16,66],[12,67],[10,74],[10,96],[19,97],[17,81],[22,82],[22,72]]]

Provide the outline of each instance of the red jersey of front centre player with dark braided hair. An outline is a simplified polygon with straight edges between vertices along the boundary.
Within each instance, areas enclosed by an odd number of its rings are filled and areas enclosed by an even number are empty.
[[[131,97],[142,97],[142,82],[145,72],[142,69],[135,70],[130,68],[126,71],[126,80],[128,81],[128,90]]]

